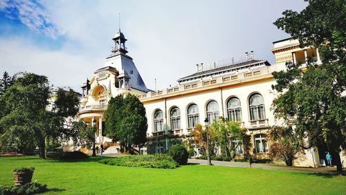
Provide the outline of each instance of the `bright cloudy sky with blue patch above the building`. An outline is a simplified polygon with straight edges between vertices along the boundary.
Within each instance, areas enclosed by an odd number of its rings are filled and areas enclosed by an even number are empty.
[[[104,66],[120,28],[127,55],[147,88],[165,89],[217,62],[253,50],[275,63],[273,41],[290,37],[273,22],[303,0],[88,1],[0,0],[0,74],[46,75],[54,86],[80,86]]]

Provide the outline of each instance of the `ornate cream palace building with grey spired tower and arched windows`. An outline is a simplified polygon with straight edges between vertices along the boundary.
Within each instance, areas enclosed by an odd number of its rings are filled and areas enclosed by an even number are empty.
[[[268,128],[280,124],[271,111],[276,96],[271,91],[271,85],[275,84],[272,73],[284,70],[289,61],[304,64],[312,59],[321,63],[315,48],[300,48],[298,40],[283,39],[273,42],[275,64],[255,59],[253,52],[245,53],[242,57],[207,64],[208,67],[199,64],[197,73],[179,79],[176,86],[150,91],[126,54],[127,39],[122,32],[113,41],[112,54],[104,67],[82,86],[86,94],[80,103],[79,116],[98,127],[98,144],[111,142],[102,133],[107,102],[118,94],[137,95],[145,106],[148,122],[148,142],[140,148],[141,154],[165,153],[171,145],[188,137],[197,124],[205,125],[205,118],[211,122],[222,116],[239,121],[247,129],[253,145],[251,152],[256,158],[268,158]],[[241,158],[242,145],[236,152]],[[322,154],[317,148],[306,150],[304,158],[295,165],[320,166]]]

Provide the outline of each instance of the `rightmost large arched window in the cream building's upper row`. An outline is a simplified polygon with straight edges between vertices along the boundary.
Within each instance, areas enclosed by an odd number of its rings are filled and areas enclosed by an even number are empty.
[[[250,118],[251,120],[262,120],[266,118],[264,112],[264,101],[262,95],[255,93],[250,97]]]

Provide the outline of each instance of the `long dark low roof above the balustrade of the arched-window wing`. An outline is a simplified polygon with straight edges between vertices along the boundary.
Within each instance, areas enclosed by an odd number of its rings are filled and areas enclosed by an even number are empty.
[[[226,65],[226,66],[222,66],[219,68],[213,68],[210,69],[208,71],[201,71],[199,73],[194,73],[192,75],[188,75],[186,77],[182,77],[178,80],[178,82],[183,82],[184,80],[188,80],[190,78],[194,78],[194,77],[205,77],[208,75],[219,75],[220,72],[230,72],[230,71],[235,71],[236,69],[242,69],[242,66],[244,66],[244,68],[248,65],[253,64],[253,66],[260,66],[262,64],[265,64],[266,66],[271,66],[271,64],[269,64],[269,62],[267,62],[266,60],[259,60],[259,59],[253,59],[253,60],[249,60],[246,62],[239,62],[237,64],[230,64],[230,65]]]

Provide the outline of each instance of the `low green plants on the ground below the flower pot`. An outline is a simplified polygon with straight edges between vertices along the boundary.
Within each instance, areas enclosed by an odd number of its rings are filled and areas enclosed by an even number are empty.
[[[47,185],[40,183],[26,183],[24,185],[15,186],[0,186],[0,194],[12,195],[12,194],[39,194],[47,192]]]

